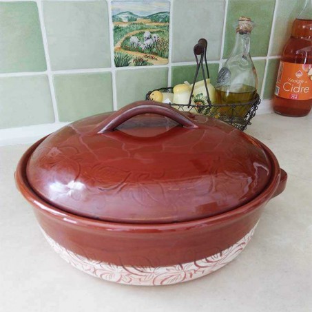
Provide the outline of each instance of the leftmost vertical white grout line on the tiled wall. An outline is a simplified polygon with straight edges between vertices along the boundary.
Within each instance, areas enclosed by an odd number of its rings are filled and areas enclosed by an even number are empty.
[[[43,41],[43,47],[44,47],[44,52],[45,52],[45,61],[47,63],[47,71],[46,72],[48,74],[48,79],[49,79],[55,122],[57,123],[57,122],[59,122],[59,112],[57,111],[56,96],[55,96],[55,90],[54,90],[54,85],[53,85],[53,77],[52,77],[52,72],[51,72],[51,62],[50,62],[50,55],[49,55],[49,49],[48,49],[47,32],[45,31],[45,23],[44,23],[44,17],[43,17],[43,8],[42,8],[41,0],[37,0],[36,2],[37,2],[37,6],[38,6],[39,21],[40,21],[40,25],[41,25],[42,41]]]

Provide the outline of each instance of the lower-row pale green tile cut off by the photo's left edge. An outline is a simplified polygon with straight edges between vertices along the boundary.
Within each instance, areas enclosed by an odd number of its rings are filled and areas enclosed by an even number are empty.
[[[0,97],[0,129],[54,122],[45,75],[1,78]]]

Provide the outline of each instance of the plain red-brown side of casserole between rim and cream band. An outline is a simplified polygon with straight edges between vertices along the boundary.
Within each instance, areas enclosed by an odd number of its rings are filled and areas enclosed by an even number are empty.
[[[263,206],[262,206],[263,207]],[[175,229],[84,229],[34,210],[48,235],[66,249],[85,258],[123,266],[162,267],[204,259],[220,253],[256,225],[262,207],[240,218],[209,223],[198,220]],[[207,219],[206,219],[207,221]],[[184,223],[184,222],[183,222]]]

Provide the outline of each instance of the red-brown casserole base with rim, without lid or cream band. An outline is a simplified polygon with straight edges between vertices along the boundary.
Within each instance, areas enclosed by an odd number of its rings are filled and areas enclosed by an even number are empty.
[[[287,180],[274,155],[263,145],[272,164],[271,178],[262,193],[242,207],[202,220],[171,224],[105,222],[61,211],[34,193],[25,167],[39,143],[23,155],[15,174],[17,187],[34,208],[39,224],[66,249],[117,265],[168,266],[200,260],[227,249],[256,225],[264,205],[280,194]]]

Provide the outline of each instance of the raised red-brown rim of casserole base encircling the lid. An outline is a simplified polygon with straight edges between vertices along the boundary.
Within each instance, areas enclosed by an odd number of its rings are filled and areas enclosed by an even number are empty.
[[[46,137],[45,137],[46,138]],[[25,166],[28,162],[28,158],[34,151],[34,149],[37,148],[37,146],[45,139],[41,138],[41,140],[37,141],[28,148],[28,150],[23,154],[21,160],[19,160],[19,164],[17,166],[17,171],[15,172],[15,180],[17,183],[17,187],[21,194],[30,202],[30,204],[35,208],[39,209],[41,213],[45,214],[46,216],[61,220],[61,222],[66,222],[70,224],[75,224],[79,227],[98,227],[101,229],[109,230],[112,229],[118,229],[123,230],[125,232],[127,231],[133,231],[133,229],[136,229],[138,233],[144,233],[146,229],[149,231],[159,231],[161,229],[162,231],[171,231],[174,229],[175,231],[183,230],[185,226],[187,227],[196,227],[196,226],[202,226],[204,223],[205,225],[209,225],[212,223],[220,222],[222,223],[224,220],[227,220],[228,218],[231,218],[233,216],[238,217],[247,214],[248,212],[252,211],[253,209],[258,208],[260,205],[264,205],[267,203],[268,200],[270,200],[276,191],[278,189],[278,183],[280,181],[280,166],[278,164],[278,160],[276,159],[275,155],[269,147],[261,143],[260,141],[256,140],[264,150],[267,152],[267,155],[271,159],[272,164],[272,172],[271,172],[271,180],[267,187],[262,191],[261,194],[259,194],[256,198],[253,198],[250,202],[247,202],[245,205],[242,205],[236,209],[233,209],[231,211],[227,211],[223,214],[218,214],[216,216],[198,219],[198,220],[191,220],[191,221],[184,221],[184,222],[177,222],[177,223],[164,223],[164,224],[132,224],[132,223],[115,223],[115,222],[109,222],[109,221],[103,221],[103,220],[96,220],[96,219],[90,219],[85,218],[83,216],[78,216],[74,214],[70,214],[69,212],[63,211],[61,209],[58,209],[54,207],[53,205],[50,205],[48,202],[45,202],[43,198],[38,196],[32,188],[30,187],[28,180],[25,176]]]

